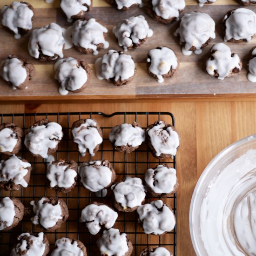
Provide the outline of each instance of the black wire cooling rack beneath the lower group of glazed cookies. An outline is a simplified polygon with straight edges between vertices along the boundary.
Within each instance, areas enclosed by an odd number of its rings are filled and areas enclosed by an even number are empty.
[[[93,159],[108,159],[112,163],[115,172],[116,180],[123,179],[126,175],[137,176],[142,180],[144,173],[148,168],[155,167],[159,163],[168,163],[173,168],[176,168],[175,157],[173,159],[164,159],[165,162],[154,158],[144,143],[132,153],[119,153],[115,152],[108,140],[108,134],[110,129],[122,122],[132,123],[137,121],[141,124],[142,128],[148,127],[149,124],[154,123],[157,120],[163,120],[171,123],[175,126],[175,119],[171,113],[168,112],[116,112],[111,115],[107,115],[101,112],[77,112],[77,113],[29,113],[29,114],[0,114],[1,122],[14,122],[23,128],[24,134],[26,134],[27,128],[29,128],[35,121],[43,118],[47,118],[50,121],[56,121],[61,124],[63,128],[63,139],[59,143],[58,150],[53,154],[55,160],[65,159],[74,160],[80,164],[81,162],[88,161],[90,155],[85,157],[79,155],[77,145],[71,140],[70,131],[72,123],[81,118],[93,118],[98,121],[102,133],[103,142],[100,150],[95,154]],[[18,154],[22,158],[28,160],[33,170],[31,172],[31,178],[29,185],[25,189],[18,191],[4,191],[0,189],[0,198],[4,196],[14,196],[19,198],[26,208],[29,207],[30,201],[41,196],[58,196],[65,200],[69,209],[69,218],[66,223],[63,223],[60,229],[55,232],[45,232],[50,242],[51,250],[54,249],[54,242],[61,237],[70,237],[81,240],[85,244],[88,255],[99,255],[99,250],[96,246],[96,241],[100,235],[91,235],[88,230],[78,220],[81,215],[81,210],[89,202],[98,201],[104,202],[112,206],[111,189],[108,189],[106,197],[96,196],[93,192],[84,189],[80,182],[77,182],[74,190],[67,194],[56,193],[54,190],[47,188],[45,177],[47,162],[33,157],[23,146],[22,150]],[[2,159],[6,159],[2,156]],[[167,202],[174,210],[176,216],[176,193],[173,196],[162,199]],[[151,202],[156,198],[147,197],[147,201]],[[162,236],[146,235],[143,229],[137,223],[138,216],[136,211],[132,213],[118,212],[118,219],[114,228],[125,232],[128,239],[133,243],[133,256],[139,256],[142,249],[147,246],[159,246],[162,245],[169,249],[174,256],[176,256],[176,227],[172,232],[168,232]],[[22,222],[18,224],[11,231],[0,232],[0,255],[9,255],[13,247],[13,244],[17,240],[17,236],[22,232],[32,231],[41,232],[42,229],[36,228],[30,221],[30,217],[25,215]]]

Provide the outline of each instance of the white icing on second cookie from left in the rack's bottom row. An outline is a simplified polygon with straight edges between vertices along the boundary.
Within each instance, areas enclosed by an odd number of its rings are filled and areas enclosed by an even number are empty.
[[[84,256],[81,248],[78,247],[76,241],[72,244],[72,239],[62,237],[55,242],[54,251],[51,256]]]

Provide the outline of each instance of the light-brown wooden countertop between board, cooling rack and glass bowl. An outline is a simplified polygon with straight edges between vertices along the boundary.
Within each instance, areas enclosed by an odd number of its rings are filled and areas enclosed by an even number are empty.
[[[42,104],[8,102],[0,104],[0,113],[77,111],[168,111],[175,115],[181,136],[177,154],[178,189],[177,255],[195,255],[189,234],[189,205],[195,184],[203,169],[223,148],[256,129],[256,99],[216,100],[108,100],[44,102]]]

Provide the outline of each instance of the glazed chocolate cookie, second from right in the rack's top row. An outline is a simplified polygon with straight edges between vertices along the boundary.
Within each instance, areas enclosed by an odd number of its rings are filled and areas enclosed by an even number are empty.
[[[145,141],[145,131],[137,122],[122,123],[111,129],[109,140],[116,151],[130,153]]]

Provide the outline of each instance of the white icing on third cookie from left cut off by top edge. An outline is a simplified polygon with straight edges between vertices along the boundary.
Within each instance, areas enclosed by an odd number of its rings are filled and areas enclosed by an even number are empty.
[[[186,6],[184,0],[151,0],[151,3],[156,15],[165,20],[179,18],[179,12]]]

